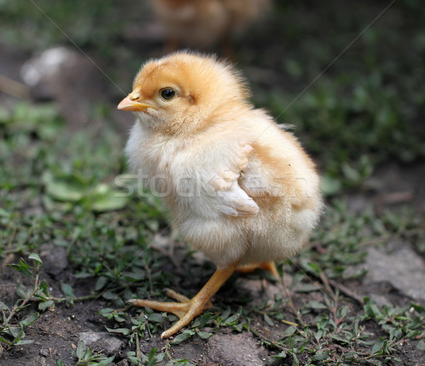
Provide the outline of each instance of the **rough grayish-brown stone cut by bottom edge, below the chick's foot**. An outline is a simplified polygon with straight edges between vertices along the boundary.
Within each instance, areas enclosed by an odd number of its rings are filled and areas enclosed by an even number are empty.
[[[208,340],[208,361],[227,366],[260,366],[266,360],[263,350],[251,333],[220,334]]]

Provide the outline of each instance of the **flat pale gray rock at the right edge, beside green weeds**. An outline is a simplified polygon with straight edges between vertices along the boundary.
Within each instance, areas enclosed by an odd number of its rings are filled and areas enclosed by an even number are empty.
[[[425,301],[425,262],[408,244],[390,253],[370,248],[365,267],[364,285],[390,282],[399,292]]]

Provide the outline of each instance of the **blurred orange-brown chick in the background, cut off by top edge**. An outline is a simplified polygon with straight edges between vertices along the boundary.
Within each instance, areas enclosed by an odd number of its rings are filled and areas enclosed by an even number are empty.
[[[151,0],[166,31],[166,52],[217,44],[232,56],[231,40],[259,20],[270,0]]]

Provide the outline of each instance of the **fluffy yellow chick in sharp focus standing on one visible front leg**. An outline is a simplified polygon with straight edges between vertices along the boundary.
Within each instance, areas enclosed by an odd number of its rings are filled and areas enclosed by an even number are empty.
[[[137,120],[125,152],[160,195],[183,239],[217,265],[192,299],[131,300],[180,320],[212,306],[238,266],[283,261],[307,241],[322,199],[314,163],[297,139],[249,103],[241,75],[214,57],[177,52],[147,62],[118,105]]]

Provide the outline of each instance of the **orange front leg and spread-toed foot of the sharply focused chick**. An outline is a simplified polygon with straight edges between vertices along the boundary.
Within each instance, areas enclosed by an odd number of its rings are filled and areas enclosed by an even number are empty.
[[[196,316],[203,313],[204,310],[212,307],[211,297],[220,289],[223,283],[226,282],[237,267],[237,263],[232,263],[225,268],[217,268],[215,273],[212,275],[210,280],[204,285],[204,287],[196,294],[192,299],[188,299],[182,294],[178,294],[173,290],[167,290],[169,297],[176,299],[179,302],[158,302],[144,299],[131,299],[131,302],[136,307],[149,307],[158,311],[166,311],[169,313],[176,314],[180,320],[162,333],[161,338],[169,338],[174,333],[188,325]]]

